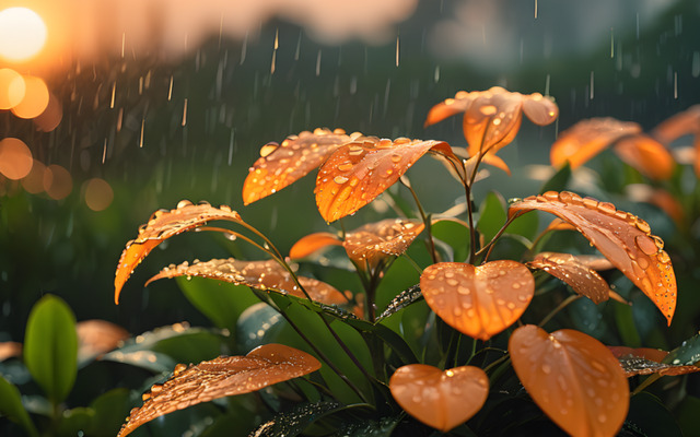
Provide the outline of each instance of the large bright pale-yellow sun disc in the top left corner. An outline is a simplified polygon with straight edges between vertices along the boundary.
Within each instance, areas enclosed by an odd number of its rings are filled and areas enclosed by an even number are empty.
[[[26,8],[0,11],[0,57],[22,62],[38,54],[46,43],[46,24]]]

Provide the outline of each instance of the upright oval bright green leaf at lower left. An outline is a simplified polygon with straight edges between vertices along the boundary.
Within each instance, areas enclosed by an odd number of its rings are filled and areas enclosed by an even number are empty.
[[[52,403],[68,397],[78,371],[78,334],[75,317],[60,297],[46,295],[32,308],[24,362]]]

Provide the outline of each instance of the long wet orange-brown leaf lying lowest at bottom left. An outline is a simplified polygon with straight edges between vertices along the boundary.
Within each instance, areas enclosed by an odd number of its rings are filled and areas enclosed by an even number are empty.
[[[131,410],[117,437],[147,422],[214,399],[249,393],[318,370],[320,363],[305,352],[266,344],[245,356],[220,356],[189,367],[178,364],[163,385],[143,394],[143,405]]]

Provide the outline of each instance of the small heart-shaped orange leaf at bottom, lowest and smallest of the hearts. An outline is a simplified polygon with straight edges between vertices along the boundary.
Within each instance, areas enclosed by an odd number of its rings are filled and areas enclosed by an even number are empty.
[[[489,394],[489,378],[474,366],[442,371],[410,364],[394,373],[389,389],[408,414],[446,433],[481,410]]]

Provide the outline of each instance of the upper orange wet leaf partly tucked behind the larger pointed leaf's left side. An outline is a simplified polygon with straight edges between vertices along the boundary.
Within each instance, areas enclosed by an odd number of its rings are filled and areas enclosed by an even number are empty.
[[[347,135],[342,129],[332,132],[316,129],[291,135],[279,146],[270,143],[262,146],[260,157],[250,167],[243,184],[244,204],[253,203],[272,194],[306,176],[318,167],[342,144],[360,137]]]

